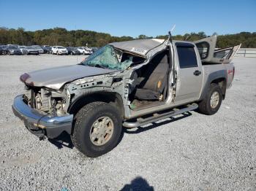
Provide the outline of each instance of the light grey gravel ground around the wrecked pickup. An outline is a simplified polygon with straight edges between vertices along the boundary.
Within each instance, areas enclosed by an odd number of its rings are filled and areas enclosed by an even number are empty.
[[[106,155],[39,141],[12,114],[25,71],[83,56],[0,56],[0,190],[256,190],[256,59],[236,58],[217,114],[191,112],[124,133]]]

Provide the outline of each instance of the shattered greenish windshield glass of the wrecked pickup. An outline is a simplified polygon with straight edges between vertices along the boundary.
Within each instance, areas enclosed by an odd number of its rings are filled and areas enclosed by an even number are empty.
[[[127,69],[131,64],[132,60],[119,61],[114,47],[110,45],[105,45],[105,47],[101,47],[99,50],[94,52],[86,61],[83,61],[80,64],[86,66],[95,66],[104,69],[114,69],[114,70],[124,70]],[[119,51],[119,53],[121,53]]]

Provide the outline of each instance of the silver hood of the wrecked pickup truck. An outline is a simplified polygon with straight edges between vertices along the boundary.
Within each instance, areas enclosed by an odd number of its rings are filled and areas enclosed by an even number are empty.
[[[20,76],[20,80],[28,85],[37,87],[45,86],[59,90],[65,83],[72,82],[75,79],[108,74],[114,71],[83,65],[60,66],[25,73]]]

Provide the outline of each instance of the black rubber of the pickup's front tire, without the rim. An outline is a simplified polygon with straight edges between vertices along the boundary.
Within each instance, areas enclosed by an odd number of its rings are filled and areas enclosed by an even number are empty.
[[[90,139],[91,126],[99,117],[109,117],[113,121],[113,133],[103,145],[97,146]],[[71,136],[74,146],[88,157],[99,157],[116,147],[121,138],[121,117],[116,107],[104,102],[92,102],[83,106],[75,116],[74,130]]]

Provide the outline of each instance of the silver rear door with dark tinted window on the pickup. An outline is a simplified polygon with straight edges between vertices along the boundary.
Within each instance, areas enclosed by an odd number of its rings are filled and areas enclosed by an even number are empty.
[[[175,101],[198,100],[203,85],[203,67],[194,44],[176,42],[176,98]],[[177,103],[178,104],[178,103]]]

